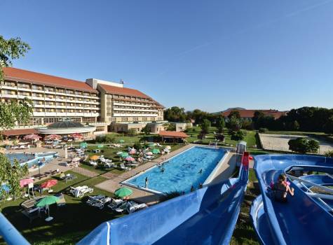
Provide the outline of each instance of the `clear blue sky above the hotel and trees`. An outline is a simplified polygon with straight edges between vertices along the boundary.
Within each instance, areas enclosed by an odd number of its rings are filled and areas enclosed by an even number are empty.
[[[166,107],[333,105],[333,0],[2,0],[21,69],[125,81]]]

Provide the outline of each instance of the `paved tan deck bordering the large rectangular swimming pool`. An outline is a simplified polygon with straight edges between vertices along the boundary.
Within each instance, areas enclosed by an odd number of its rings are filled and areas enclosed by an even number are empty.
[[[202,145],[196,145],[196,144],[189,144],[182,148],[177,149],[176,151],[172,151],[171,153],[167,155],[163,155],[160,158],[156,158],[152,160],[151,162],[147,162],[144,165],[140,165],[139,167],[136,167],[135,169],[131,169],[123,174],[120,174],[118,176],[114,176],[114,178],[109,179],[107,181],[104,181],[102,183],[99,183],[96,185],[97,188],[100,188],[102,190],[107,190],[110,193],[114,193],[118,188],[121,188],[125,185],[121,184],[121,182],[125,181],[126,179],[129,179],[132,176],[135,176],[139,174],[140,172],[149,169],[150,167],[153,167],[154,165],[163,162],[162,158],[165,160],[168,160],[169,158],[172,158],[174,155],[177,155],[178,153],[182,153],[183,151],[193,147],[193,146],[202,146]],[[231,174],[233,174],[234,169],[236,168],[236,155],[235,153],[229,153],[229,155],[224,160],[224,163],[219,167],[217,172],[214,175],[214,179],[211,183],[215,183],[215,181],[224,181],[225,179],[229,179]],[[127,188],[130,188],[133,191],[133,194],[130,196],[131,200],[135,200],[137,202],[144,202],[146,204],[156,204],[159,200],[161,195],[155,194],[155,193],[149,193],[148,191],[144,191],[142,189],[126,186]]]

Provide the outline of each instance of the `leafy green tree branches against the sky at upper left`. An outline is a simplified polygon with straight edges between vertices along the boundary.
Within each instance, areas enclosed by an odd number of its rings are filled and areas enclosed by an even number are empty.
[[[9,38],[6,40],[0,35],[0,80],[4,80],[3,67],[11,66],[13,59],[19,59],[25,56],[30,49],[29,44],[21,41],[21,38]]]

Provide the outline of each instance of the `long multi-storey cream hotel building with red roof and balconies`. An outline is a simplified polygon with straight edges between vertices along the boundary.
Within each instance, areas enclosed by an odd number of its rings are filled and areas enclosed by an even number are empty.
[[[147,124],[163,120],[163,106],[138,90],[95,78],[86,82],[12,67],[4,68],[1,102],[31,99],[29,123],[15,129],[45,127],[63,118],[96,127],[95,134],[119,130],[117,124]],[[138,129],[140,130],[140,129]]]

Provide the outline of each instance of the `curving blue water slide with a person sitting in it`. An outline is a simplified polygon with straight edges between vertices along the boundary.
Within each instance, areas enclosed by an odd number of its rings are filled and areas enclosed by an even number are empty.
[[[332,244],[333,215],[324,209],[315,197],[295,182],[294,196],[287,203],[271,197],[270,184],[278,175],[299,168],[304,171],[333,173],[333,158],[313,155],[258,155],[254,170],[261,195],[252,203],[250,216],[261,244]],[[304,178],[304,177],[302,177]],[[320,185],[329,182],[329,176],[307,176]]]

